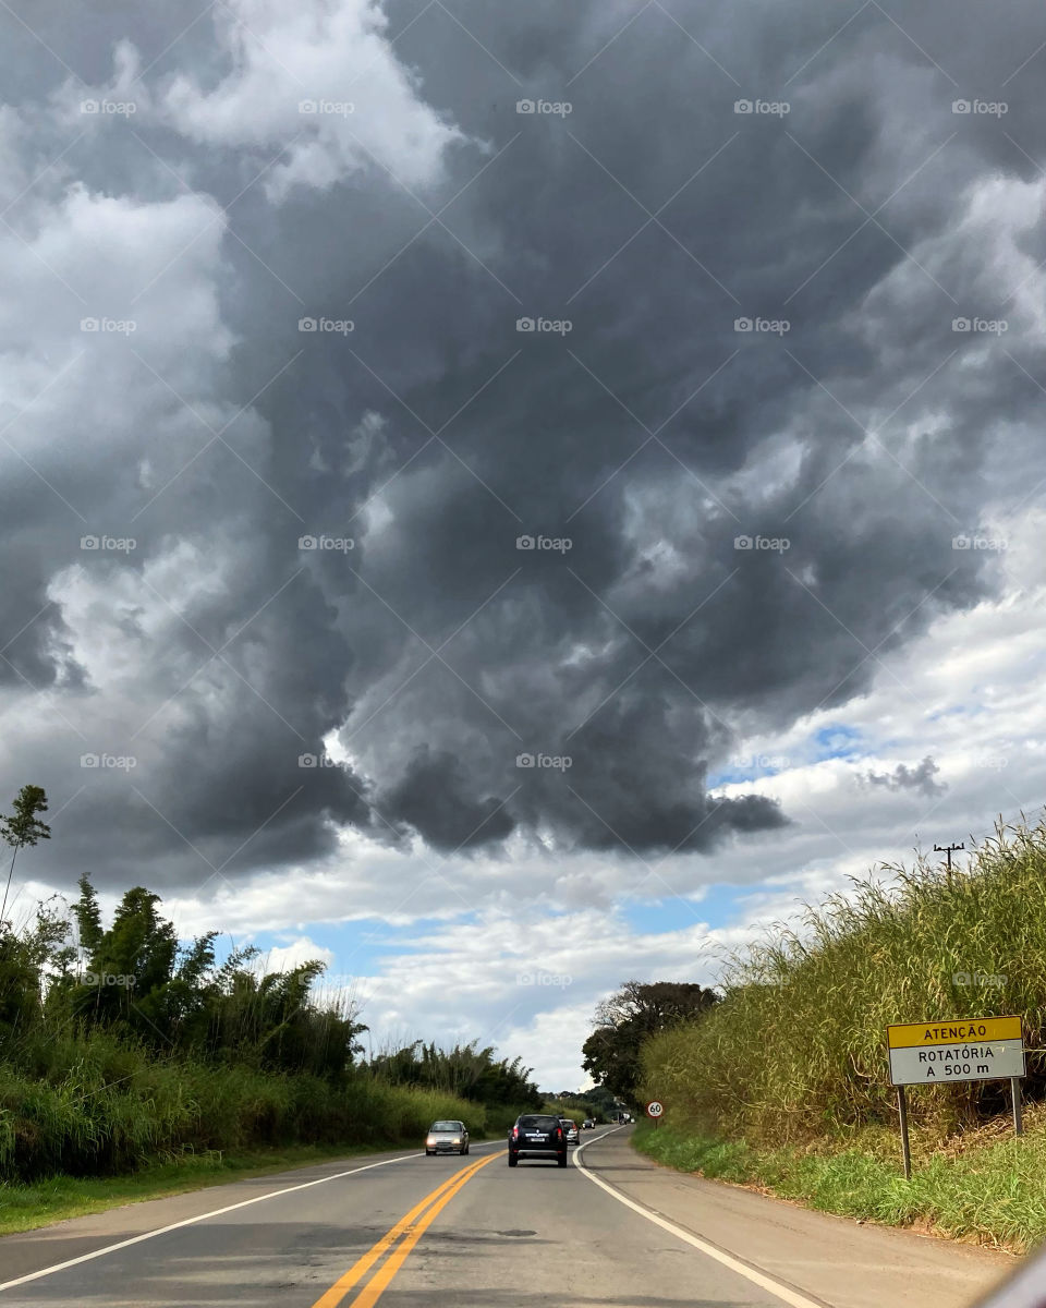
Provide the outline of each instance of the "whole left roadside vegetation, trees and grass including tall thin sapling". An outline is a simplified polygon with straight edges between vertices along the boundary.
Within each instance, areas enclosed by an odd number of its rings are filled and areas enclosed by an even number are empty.
[[[27,786],[0,819],[13,857],[48,838],[46,808]],[[540,1103],[530,1070],[490,1048],[418,1042],[367,1065],[352,1002],[315,998],[322,963],[268,972],[254,948],[220,959],[217,931],[179,942],[140,886],[105,925],[90,880],[78,887],[18,931],[0,913],[0,1182],[214,1150],[417,1143],[438,1117],[480,1135]]]

